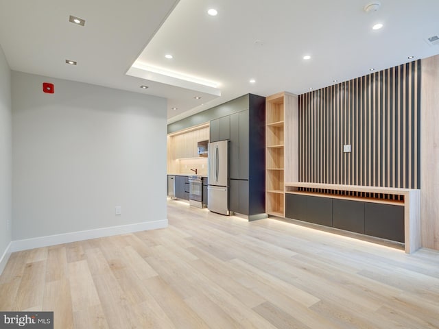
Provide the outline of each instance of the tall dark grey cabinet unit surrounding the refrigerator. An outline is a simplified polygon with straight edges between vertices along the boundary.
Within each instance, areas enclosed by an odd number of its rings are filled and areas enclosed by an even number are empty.
[[[228,101],[228,115],[211,120],[211,142],[230,140],[229,210],[249,220],[265,214],[265,97],[244,95]],[[219,109],[221,110],[221,109]]]

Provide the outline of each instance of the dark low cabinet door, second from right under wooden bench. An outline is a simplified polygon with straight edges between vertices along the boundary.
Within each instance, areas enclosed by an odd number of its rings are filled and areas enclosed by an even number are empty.
[[[333,226],[364,234],[364,202],[333,199]]]

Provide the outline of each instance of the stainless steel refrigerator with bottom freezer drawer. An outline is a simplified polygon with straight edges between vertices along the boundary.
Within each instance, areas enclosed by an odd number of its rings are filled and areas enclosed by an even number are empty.
[[[207,208],[219,214],[228,211],[228,141],[209,143]]]

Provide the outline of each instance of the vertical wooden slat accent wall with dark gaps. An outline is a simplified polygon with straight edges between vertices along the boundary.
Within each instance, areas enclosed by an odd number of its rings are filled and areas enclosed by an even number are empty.
[[[420,60],[300,95],[299,181],[420,188]]]

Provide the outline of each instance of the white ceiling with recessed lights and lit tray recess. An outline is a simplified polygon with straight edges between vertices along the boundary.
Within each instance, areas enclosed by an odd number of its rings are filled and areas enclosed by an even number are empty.
[[[427,42],[439,36],[439,0],[381,0],[366,13],[370,2],[0,0],[0,45],[16,71],[166,97],[170,123],[246,93],[306,93],[439,53]]]

